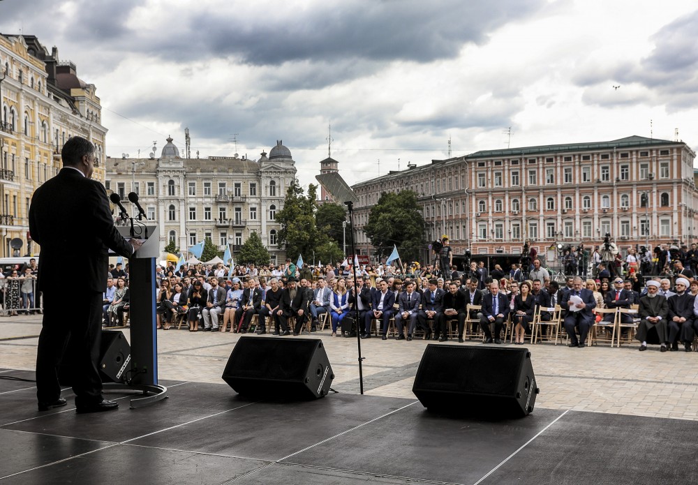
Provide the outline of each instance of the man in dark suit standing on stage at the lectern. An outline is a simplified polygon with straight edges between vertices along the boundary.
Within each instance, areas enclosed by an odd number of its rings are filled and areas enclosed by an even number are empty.
[[[43,326],[36,355],[38,409],[66,405],[61,398],[58,366],[70,340],[73,352],[73,391],[77,412],[115,410],[105,401],[97,368],[100,341],[104,269],[107,248],[130,258],[140,247],[129,244],[114,227],[107,193],[91,180],[94,144],[72,137],[63,147],[64,167],[34,192],[29,208],[31,239],[41,246],[38,289],[43,292]],[[80,291],[70,295],[66,313],[64,264],[80,268]]]

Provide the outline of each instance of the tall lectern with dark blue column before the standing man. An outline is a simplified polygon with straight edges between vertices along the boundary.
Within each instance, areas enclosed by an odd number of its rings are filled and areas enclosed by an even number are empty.
[[[131,399],[131,409],[135,409],[168,397],[168,388],[158,385],[155,264],[160,257],[160,231],[152,221],[117,225],[117,230],[126,238],[145,239],[145,242],[128,260],[131,360],[125,365],[126,375],[131,379],[129,382],[105,382],[103,387],[142,391],[144,397]]]

